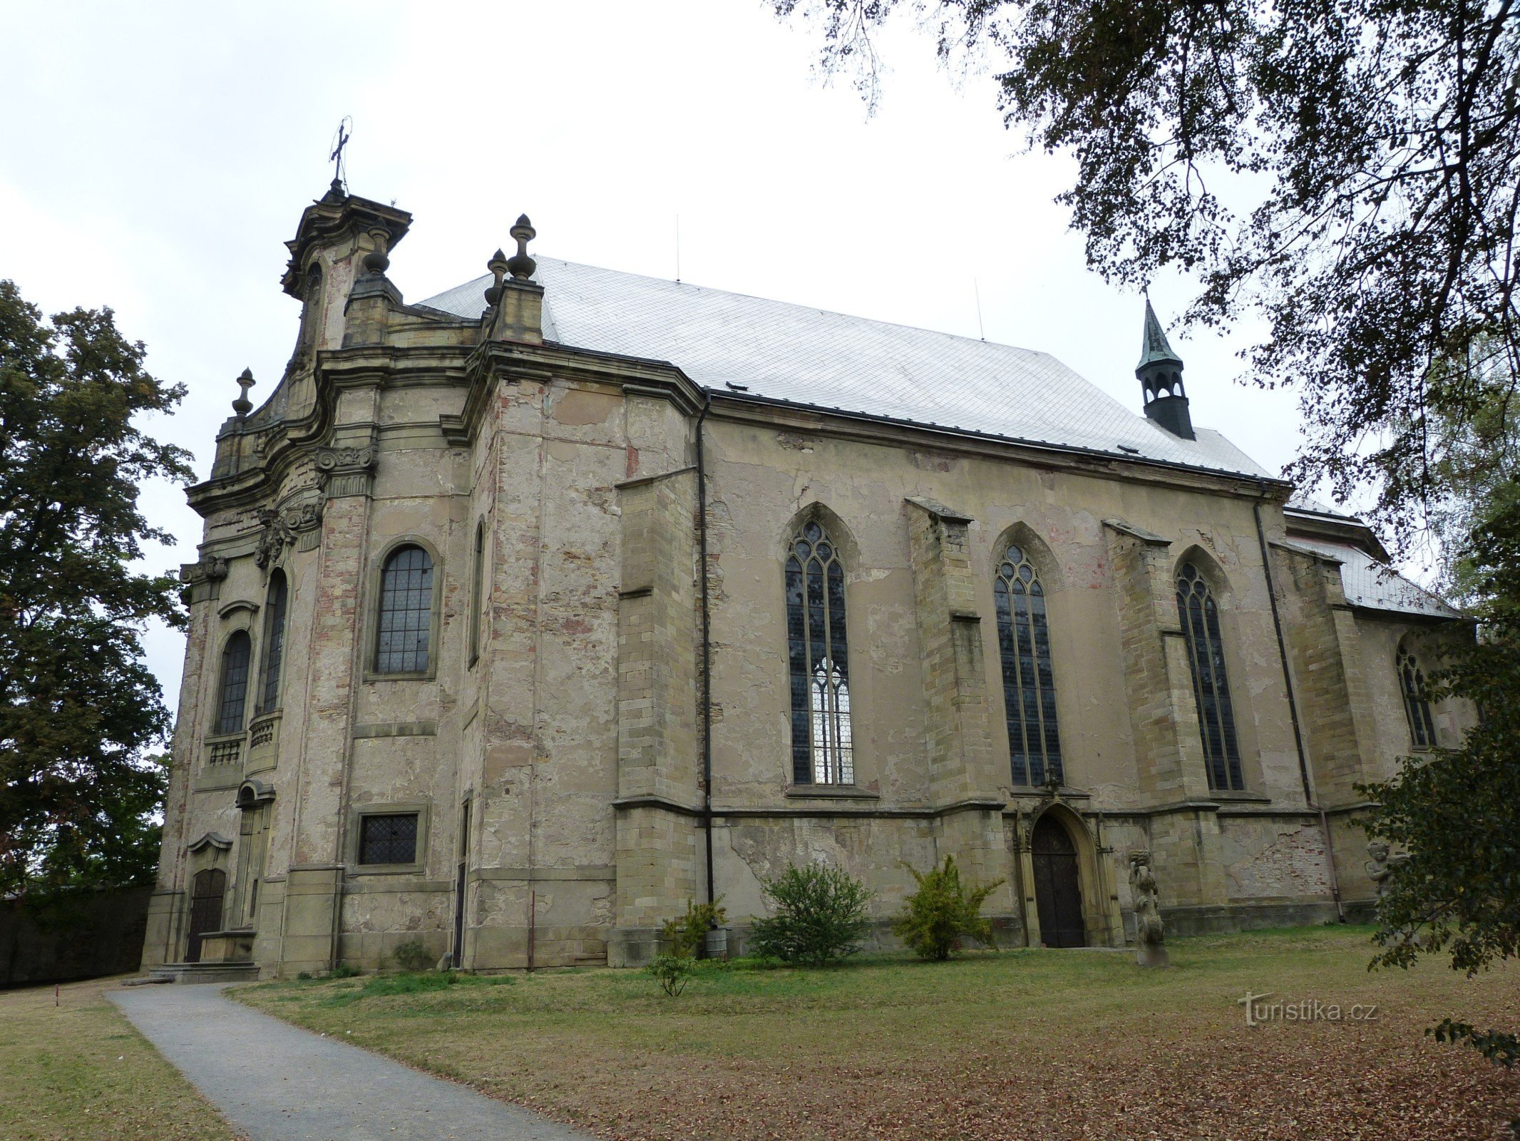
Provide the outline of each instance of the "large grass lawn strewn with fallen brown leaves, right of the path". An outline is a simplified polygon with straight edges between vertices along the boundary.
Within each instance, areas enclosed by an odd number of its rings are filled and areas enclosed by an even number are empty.
[[[1520,969],[1366,971],[1368,928],[825,971],[275,983],[243,1001],[608,1138],[1505,1138],[1520,1073],[1423,1030],[1520,1022]],[[1246,990],[1376,1004],[1248,1027]]]

